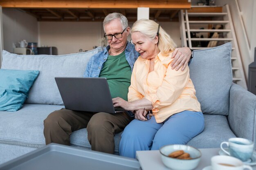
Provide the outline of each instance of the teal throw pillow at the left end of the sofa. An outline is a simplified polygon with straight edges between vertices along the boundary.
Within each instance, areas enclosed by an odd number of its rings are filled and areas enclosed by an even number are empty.
[[[38,74],[36,70],[0,69],[0,110],[19,110]]]

